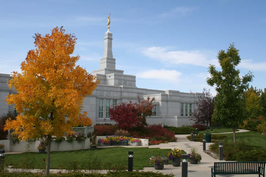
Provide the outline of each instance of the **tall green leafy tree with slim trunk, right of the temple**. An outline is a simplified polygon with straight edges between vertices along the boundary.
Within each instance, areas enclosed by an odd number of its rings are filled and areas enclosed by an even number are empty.
[[[236,66],[241,58],[234,44],[230,44],[227,51],[220,50],[217,58],[222,71],[218,71],[215,65],[210,65],[208,71],[211,76],[207,78],[208,85],[215,86],[217,91],[212,118],[226,127],[233,128],[233,139],[236,142],[236,128],[242,124],[245,116],[244,90],[248,88],[254,76],[251,72],[239,76],[240,71]]]

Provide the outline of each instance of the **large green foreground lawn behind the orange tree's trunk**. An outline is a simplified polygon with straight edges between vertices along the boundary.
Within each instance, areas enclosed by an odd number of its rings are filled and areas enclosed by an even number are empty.
[[[86,169],[96,163],[100,169],[111,169],[120,165],[126,167],[128,165],[128,151],[134,151],[133,169],[141,170],[143,167],[153,167],[150,165],[150,156],[160,155],[167,157],[171,149],[159,148],[97,148],[96,150],[75,150],[51,152],[50,168],[51,169],[67,169],[75,164],[78,168]],[[182,153],[185,153],[182,151]],[[5,160],[10,161],[10,165],[25,164],[27,153],[6,154]],[[28,153],[29,161],[33,168],[41,168],[45,166],[47,154]],[[45,161],[43,161],[43,159]],[[59,166],[60,165],[60,166]]]

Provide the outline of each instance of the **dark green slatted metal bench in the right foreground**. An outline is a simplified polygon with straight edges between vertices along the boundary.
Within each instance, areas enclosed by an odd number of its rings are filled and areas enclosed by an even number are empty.
[[[212,177],[215,175],[258,174],[265,177],[265,161],[258,162],[214,162]]]

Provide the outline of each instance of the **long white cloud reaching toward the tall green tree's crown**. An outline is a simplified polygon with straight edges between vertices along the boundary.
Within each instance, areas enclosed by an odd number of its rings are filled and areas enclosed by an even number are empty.
[[[216,59],[209,60],[208,54],[200,51],[172,50],[167,47],[148,47],[143,48],[141,53],[163,63],[168,64],[190,64],[196,66],[208,66],[209,64],[217,64]]]

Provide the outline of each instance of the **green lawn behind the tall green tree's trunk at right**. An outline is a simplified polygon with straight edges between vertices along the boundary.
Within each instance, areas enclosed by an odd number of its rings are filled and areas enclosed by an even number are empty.
[[[233,142],[233,133],[223,134],[228,136],[228,142]],[[236,133],[236,142],[249,142],[252,145],[259,146],[266,149],[266,135],[261,132],[249,131]]]

